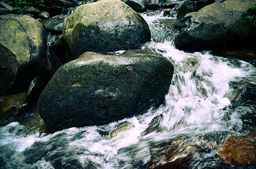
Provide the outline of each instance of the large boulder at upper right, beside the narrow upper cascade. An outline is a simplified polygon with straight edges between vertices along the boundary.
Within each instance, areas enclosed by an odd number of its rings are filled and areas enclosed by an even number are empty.
[[[256,37],[254,21],[248,19],[253,0],[216,1],[198,12],[187,14],[175,28],[175,46],[185,51],[215,50],[251,45]]]

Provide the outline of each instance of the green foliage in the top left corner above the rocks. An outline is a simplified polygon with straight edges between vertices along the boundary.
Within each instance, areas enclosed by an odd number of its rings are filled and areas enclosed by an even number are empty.
[[[13,10],[16,10],[16,11],[21,10],[21,8],[25,6],[30,6],[30,7],[45,6],[44,0],[15,0],[15,1],[9,2],[8,5],[14,6]]]

